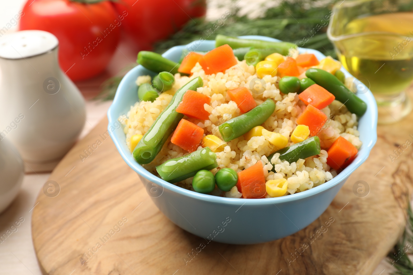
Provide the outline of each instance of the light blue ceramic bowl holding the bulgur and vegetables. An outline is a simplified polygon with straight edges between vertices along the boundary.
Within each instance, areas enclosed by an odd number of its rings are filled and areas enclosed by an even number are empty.
[[[255,35],[243,38],[278,41]],[[186,46],[173,47],[163,56],[178,61],[185,47],[209,51],[214,45],[215,42],[211,40],[192,42]],[[301,48],[300,52],[313,53],[319,60],[325,57],[313,49]],[[343,72],[346,76],[350,75],[347,71]],[[108,111],[110,136],[123,160],[138,173],[161,212],[180,228],[207,240],[255,244],[277,240],[305,228],[327,209],[349,175],[367,159],[377,140],[376,102],[373,94],[361,84],[358,85],[359,97],[368,105],[367,112],[358,124],[363,146],[356,159],[334,179],[301,193],[269,199],[234,199],[196,193],[168,183],[145,170],[135,162],[126,146],[125,134],[117,119],[138,101],[136,78],[148,74],[153,75],[139,65],[122,79]]]

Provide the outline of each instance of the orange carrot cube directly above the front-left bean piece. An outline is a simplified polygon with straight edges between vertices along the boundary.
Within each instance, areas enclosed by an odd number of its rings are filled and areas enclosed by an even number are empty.
[[[181,119],[173,132],[171,142],[192,153],[197,150],[203,135],[204,129],[188,120]]]

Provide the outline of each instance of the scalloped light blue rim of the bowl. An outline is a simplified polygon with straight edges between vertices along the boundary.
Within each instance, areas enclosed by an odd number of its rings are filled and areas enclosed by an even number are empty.
[[[274,39],[274,38],[269,38],[269,37],[259,36],[259,35],[245,35],[245,36],[240,36],[240,38],[259,39],[259,40],[266,40],[266,41],[280,41],[280,40],[277,40],[277,39]],[[204,40],[204,41],[214,41],[214,40]],[[197,41],[191,42],[188,45],[183,45],[183,46],[189,47],[192,44],[194,44],[195,42],[197,42]],[[163,54],[163,56],[168,55],[176,47],[182,47],[182,46],[172,47],[171,49],[166,51]],[[300,47],[298,49],[299,49],[300,52],[309,52],[309,53],[314,53],[314,54],[318,54],[318,55],[320,55],[320,54],[323,55],[322,53],[320,53],[320,52],[318,52],[317,50],[314,50],[314,49],[306,49],[306,48],[300,48]],[[113,103],[109,107],[109,110],[107,112],[107,116],[108,116],[108,120],[109,120],[108,130],[109,130],[110,125],[112,125],[112,123],[117,121],[117,118],[119,118],[119,114],[115,113],[114,106],[119,102],[120,97],[123,96],[122,93],[121,93],[121,90],[123,89],[123,86],[126,86],[126,78],[127,78],[128,74],[131,74],[134,70],[139,70],[140,68],[143,68],[143,67],[140,67],[140,66],[141,65],[136,66],[135,68],[131,69],[131,71],[129,71],[123,77],[123,79],[121,80],[121,82],[119,84],[119,87],[116,90],[116,95],[114,97]],[[350,73],[348,73],[346,70],[344,70],[344,68],[342,68],[341,71],[344,72],[346,77],[352,76],[352,75],[350,75]],[[361,84],[361,85],[364,85],[364,84]],[[365,86],[364,86],[364,88],[367,89],[367,87],[365,87]],[[290,195],[282,196],[282,197],[262,198],[262,199],[228,198],[228,197],[218,197],[218,196],[214,196],[214,195],[207,195],[207,194],[197,193],[195,191],[191,191],[191,190],[181,188],[181,187],[176,186],[172,183],[164,181],[163,179],[158,178],[157,176],[155,176],[154,174],[150,173],[145,168],[143,168],[141,165],[139,165],[133,159],[130,151],[129,150],[124,150],[125,148],[127,149],[127,147],[122,145],[121,143],[122,142],[125,143],[125,140],[119,141],[112,131],[109,130],[108,132],[109,132],[109,134],[110,134],[117,150],[119,151],[119,153],[122,156],[123,160],[129,165],[129,167],[131,167],[135,172],[137,172],[141,176],[145,177],[149,181],[152,181],[153,183],[156,183],[156,184],[162,186],[163,188],[167,188],[169,190],[172,190],[172,191],[174,191],[174,192],[176,192],[180,195],[189,196],[189,197],[192,197],[194,199],[214,202],[214,203],[218,203],[218,204],[232,204],[232,205],[240,205],[240,204],[242,204],[242,205],[244,205],[244,204],[247,204],[247,205],[263,205],[264,204],[264,205],[266,205],[266,204],[274,204],[274,203],[291,202],[291,201],[301,200],[301,199],[304,199],[304,198],[307,198],[307,197],[311,197],[315,194],[322,193],[323,191],[332,188],[333,186],[337,185],[341,181],[347,179],[347,177],[351,173],[353,173],[368,158],[368,155],[370,154],[370,150],[373,148],[373,146],[375,145],[375,143],[377,141],[377,105],[376,105],[376,101],[374,99],[374,96],[370,92],[370,90],[368,90],[364,95],[366,97],[364,100],[367,101],[366,103],[368,105],[368,109],[367,109],[366,113],[363,115],[363,117],[364,116],[370,116],[371,117],[371,123],[369,125],[371,128],[368,129],[368,131],[371,131],[371,134],[372,134],[372,139],[370,139],[370,142],[368,142],[367,144],[363,143],[362,148],[361,148],[361,150],[359,150],[359,153],[358,153],[357,157],[354,159],[354,161],[348,167],[346,167],[344,170],[342,170],[342,172],[340,172],[337,176],[335,176],[333,179],[331,179],[330,181],[326,181],[325,183],[323,183],[319,186],[313,187],[313,188],[305,190],[303,192],[294,193],[294,194],[290,194]],[[131,103],[131,104],[135,104],[135,103]],[[121,129],[123,129],[123,127],[121,127]],[[361,151],[361,153],[360,153],[360,151]]]

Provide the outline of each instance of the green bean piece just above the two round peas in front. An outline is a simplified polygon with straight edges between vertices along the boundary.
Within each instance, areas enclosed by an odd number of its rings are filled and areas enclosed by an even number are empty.
[[[165,181],[176,183],[195,176],[199,170],[211,170],[216,167],[216,154],[209,147],[205,147],[188,155],[167,160],[158,165],[156,170]]]

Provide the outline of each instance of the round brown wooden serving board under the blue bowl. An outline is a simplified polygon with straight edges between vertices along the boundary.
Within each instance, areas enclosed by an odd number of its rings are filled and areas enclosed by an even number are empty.
[[[393,162],[389,155],[406,139],[413,142],[412,119],[379,127],[370,158],[319,219],[292,236],[256,245],[207,243],[175,226],[123,162],[103,119],[52,172],[58,195],[38,195],[32,237],[40,267],[53,275],[371,274],[404,228],[413,146]],[[355,195],[354,185],[363,187],[358,183],[369,187],[368,195]]]

